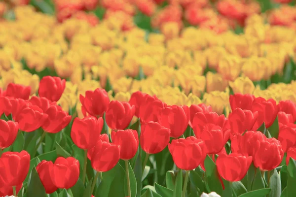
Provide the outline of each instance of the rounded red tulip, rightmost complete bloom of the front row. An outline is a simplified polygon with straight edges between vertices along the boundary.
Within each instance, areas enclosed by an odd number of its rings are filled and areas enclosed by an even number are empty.
[[[259,167],[261,171],[272,170],[283,160],[284,151],[281,142],[273,137],[262,142],[257,141],[255,149],[254,165]]]

